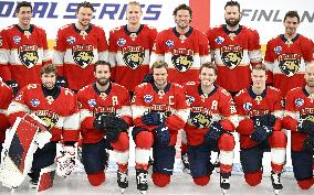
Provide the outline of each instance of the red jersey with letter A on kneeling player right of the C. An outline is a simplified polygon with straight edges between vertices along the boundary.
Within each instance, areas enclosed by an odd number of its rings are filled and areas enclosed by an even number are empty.
[[[199,83],[186,85],[190,116],[186,124],[188,145],[199,145],[209,131],[211,122],[219,121],[227,131],[234,131],[238,117],[231,95],[216,86],[210,94],[203,94]]]

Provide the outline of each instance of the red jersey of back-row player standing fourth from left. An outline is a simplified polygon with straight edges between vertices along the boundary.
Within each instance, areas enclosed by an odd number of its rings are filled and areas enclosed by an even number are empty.
[[[153,48],[150,66],[156,61],[168,63],[168,80],[186,84],[198,82],[199,68],[210,62],[208,40],[201,31],[190,28],[186,34],[179,34],[170,28],[157,34]]]

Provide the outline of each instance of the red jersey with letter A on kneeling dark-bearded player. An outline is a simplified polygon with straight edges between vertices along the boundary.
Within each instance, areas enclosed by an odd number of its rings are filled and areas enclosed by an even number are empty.
[[[96,143],[104,132],[95,129],[93,122],[98,115],[113,113],[132,124],[129,94],[125,87],[111,83],[106,91],[100,91],[96,84],[88,85],[77,93],[81,116],[81,134],[84,143]]]

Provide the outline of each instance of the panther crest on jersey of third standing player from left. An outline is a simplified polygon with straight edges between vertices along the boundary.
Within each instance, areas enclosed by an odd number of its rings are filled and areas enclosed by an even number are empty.
[[[138,68],[144,62],[145,48],[143,46],[127,46],[122,51],[124,63],[132,69]]]

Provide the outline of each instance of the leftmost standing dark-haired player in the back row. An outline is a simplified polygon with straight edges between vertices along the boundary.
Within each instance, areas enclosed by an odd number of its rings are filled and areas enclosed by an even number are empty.
[[[18,24],[0,32],[0,77],[14,95],[28,84],[40,83],[40,68],[50,62],[45,31],[31,24],[32,6],[18,2]]]

